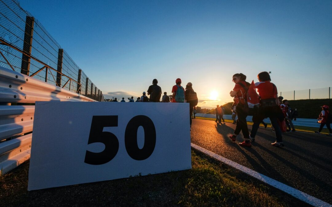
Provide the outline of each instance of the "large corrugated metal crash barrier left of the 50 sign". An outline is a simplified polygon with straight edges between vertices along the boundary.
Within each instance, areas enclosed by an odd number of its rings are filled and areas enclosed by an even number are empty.
[[[0,67],[0,175],[30,158],[36,101],[95,101]],[[18,105],[14,105],[18,104]]]

